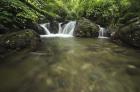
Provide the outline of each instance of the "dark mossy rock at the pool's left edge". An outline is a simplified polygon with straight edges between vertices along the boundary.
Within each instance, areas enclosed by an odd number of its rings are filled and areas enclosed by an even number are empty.
[[[26,29],[5,34],[0,39],[0,46],[6,49],[36,49],[40,43],[40,36],[33,30]]]

